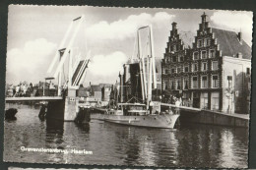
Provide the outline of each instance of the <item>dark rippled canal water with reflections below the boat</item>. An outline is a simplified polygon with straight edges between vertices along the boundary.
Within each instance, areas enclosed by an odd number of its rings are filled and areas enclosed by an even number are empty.
[[[121,126],[92,120],[40,121],[39,107],[18,108],[16,121],[5,121],[4,160],[8,162],[100,164],[158,167],[246,168],[248,129],[182,125],[176,130]],[[93,154],[29,152],[21,147],[93,151]]]

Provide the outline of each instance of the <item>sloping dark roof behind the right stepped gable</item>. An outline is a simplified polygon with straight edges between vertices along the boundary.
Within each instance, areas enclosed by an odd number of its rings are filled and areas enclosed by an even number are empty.
[[[236,56],[237,53],[241,53],[243,59],[251,59],[250,46],[243,39],[240,43],[235,31],[220,28],[212,28],[212,30],[217,38],[217,43],[220,44],[223,56],[232,57]]]

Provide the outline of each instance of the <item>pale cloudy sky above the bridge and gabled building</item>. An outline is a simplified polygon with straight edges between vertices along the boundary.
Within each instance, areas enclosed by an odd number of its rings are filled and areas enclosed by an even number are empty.
[[[171,23],[176,22],[179,31],[196,34],[204,12],[208,15],[210,27],[236,32],[241,30],[243,39],[251,45],[252,12],[10,5],[6,83],[17,85],[27,81],[36,84],[51,77],[52,73],[47,73],[47,70],[55,53],[68,45],[66,43],[60,46],[64,34],[72,20],[82,15],[85,16],[85,21],[72,45],[73,55],[81,54],[85,58],[91,54],[84,85],[89,85],[90,82],[96,85],[115,83],[122,65],[131,56],[136,56],[137,28],[149,25],[153,27],[155,56],[162,58]],[[74,24],[77,26],[78,22]],[[72,33],[74,30],[68,37]],[[147,30],[143,30],[142,48],[145,54],[146,37]],[[67,69],[66,65],[64,69]]]

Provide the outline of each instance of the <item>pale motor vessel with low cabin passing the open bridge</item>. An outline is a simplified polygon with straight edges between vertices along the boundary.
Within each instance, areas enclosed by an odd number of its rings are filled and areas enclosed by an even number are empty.
[[[106,109],[103,114],[92,114],[91,118],[129,126],[173,129],[179,114],[172,110],[150,114],[146,105],[136,103],[119,103],[120,109]],[[136,107],[136,108],[134,108]]]

